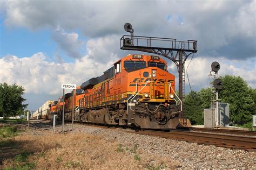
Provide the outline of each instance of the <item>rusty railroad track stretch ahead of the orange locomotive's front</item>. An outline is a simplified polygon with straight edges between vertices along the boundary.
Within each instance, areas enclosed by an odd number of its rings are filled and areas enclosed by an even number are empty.
[[[157,136],[176,140],[185,140],[187,142],[198,143],[202,145],[215,145],[231,149],[245,151],[256,151],[256,138],[248,136],[233,136],[231,134],[204,133],[195,131],[170,131],[161,132],[153,130],[144,130],[138,134]]]

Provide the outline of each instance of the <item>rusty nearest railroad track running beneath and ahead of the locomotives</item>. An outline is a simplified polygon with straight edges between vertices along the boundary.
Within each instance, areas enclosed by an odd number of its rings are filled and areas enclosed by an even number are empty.
[[[75,123],[81,124],[81,123]],[[122,127],[105,126],[96,124],[84,124],[97,128],[116,129]],[[189,131],[188,131],[189,130]],[[215,145],[230,149],[240,149],[245,151],[256,151],[256,133],[251,131],[223,130],[223,129],[205,129],[205,128],[189,128],[183,130],[157,131],[157,130],[127,130],[122,131],[129,133],[144,134],[149,136],[163,137],[168,139],[184,140],[190,143],[202,145]]]

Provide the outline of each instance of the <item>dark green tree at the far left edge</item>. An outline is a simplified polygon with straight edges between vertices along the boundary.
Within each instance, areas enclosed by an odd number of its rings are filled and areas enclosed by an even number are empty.
[[[16,116],[24,110],[28,104],[25,102],[24,88],[17,84],[8,85],[0,83],[0,116],[5,119],[9,116]]]

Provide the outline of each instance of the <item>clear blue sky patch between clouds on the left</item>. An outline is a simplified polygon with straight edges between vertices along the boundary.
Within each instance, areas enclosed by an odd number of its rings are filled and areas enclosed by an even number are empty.
[[[52,39],[52,30],[44,28],[31,31],[24,27],[7,28],[3,24],[4,19],[0,20],[0,58],[6,55],[16,55],[18,58],[30,57],[35,53],[43,52],[49,60],[55,61],[54,56],[58,53],[63,61],[74,62],[62,49],[59,49],[56,42]],[[87,39],[82,36],[79,30],[79,39],[84,42]],[[79,52],[86,53],[86,48],[80,48]]]

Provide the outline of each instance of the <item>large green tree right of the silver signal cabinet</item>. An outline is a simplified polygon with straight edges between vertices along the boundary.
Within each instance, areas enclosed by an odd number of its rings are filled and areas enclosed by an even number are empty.
[[[230,103],[230,120],[235,124],[244,124],[252,120],[253,97],[247,82],[240,76],[220,77],[223,89],[220,90],[221,102]]]

